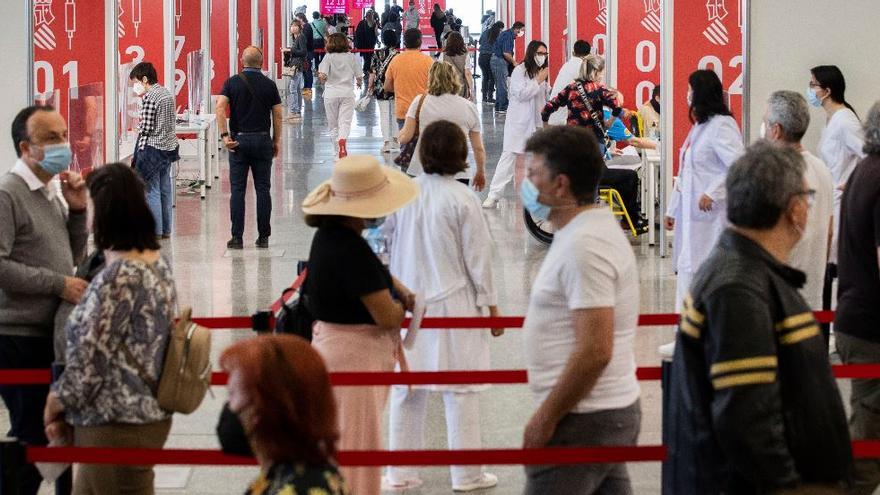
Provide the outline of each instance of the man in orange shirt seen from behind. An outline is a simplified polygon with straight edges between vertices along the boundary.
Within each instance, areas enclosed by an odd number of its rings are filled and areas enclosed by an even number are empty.
[[[421,52],[422,32],[418,29],[403,33],[403,46],[406,49],[394,57],[385,72],[385,91],[394,93],[395,117],[401,129],[412,101],[428,91],[428,71],[434,63]]]

